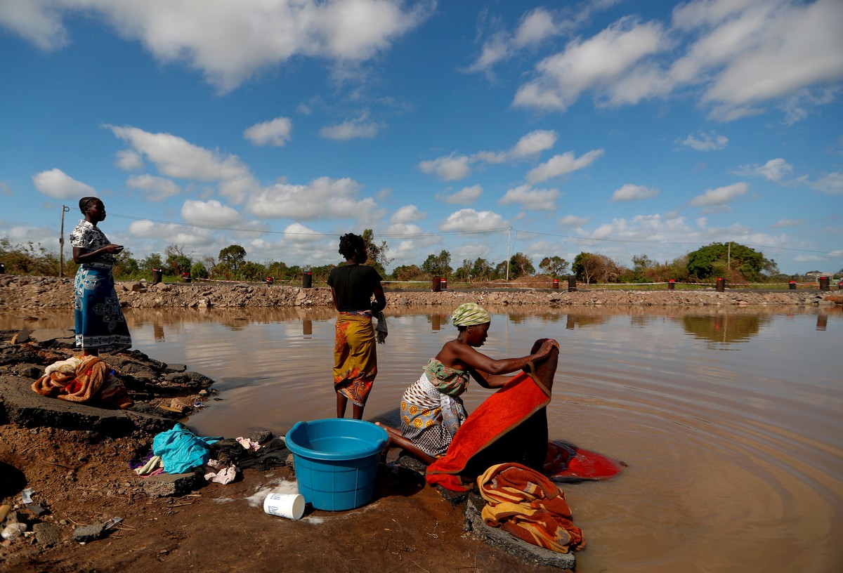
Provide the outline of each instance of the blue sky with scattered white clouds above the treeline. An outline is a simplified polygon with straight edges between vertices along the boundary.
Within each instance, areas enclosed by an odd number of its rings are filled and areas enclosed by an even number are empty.
[[[0,0],[0,237],[843,268],[843,2]],[[65,256],[69,255],[65,246]]]

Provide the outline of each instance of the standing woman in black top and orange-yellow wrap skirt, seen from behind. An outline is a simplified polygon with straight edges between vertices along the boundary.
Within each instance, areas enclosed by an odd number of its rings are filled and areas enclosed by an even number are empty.
[[[372,315],[386,307],[386,297],[378,271],[363,264],[368,254],[360,235],[342,235],[340,254],[346,258],[346,264],[332,269],[328,276],[334,307],[339,313],[334,339],[336,417],[345,417],[350,399],[353,417],[362,420],[366,399],[378,374]]]

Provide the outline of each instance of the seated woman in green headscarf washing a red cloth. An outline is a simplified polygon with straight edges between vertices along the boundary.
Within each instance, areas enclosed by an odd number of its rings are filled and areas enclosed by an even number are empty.
[[[451,315],[459,331],[433,357],[416,383],[401,397],[401,431],[389,432],[389,445],[403,447],[424,463],[433,463],[448,451],[451,438],[467,417],[462,399],[470,378],[483,388],[501,388],[509,381],[500,376],[523,369],[528,362],[545,360],[556,340],[546,340],[539,351],[521,358],[495,360],[475,350],[486,341],[491,318],[480,305],[465,303]]]

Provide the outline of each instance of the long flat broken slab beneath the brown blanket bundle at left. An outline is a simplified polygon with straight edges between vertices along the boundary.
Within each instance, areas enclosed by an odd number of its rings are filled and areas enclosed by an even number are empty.
[[[109,436],[128,436],[134,431],[158,433],[174,425],[173,420],[162,416],[47,398],[33,391],[30,380],[8,375],[0,375],[0,420],[30,428],[91,430]]]

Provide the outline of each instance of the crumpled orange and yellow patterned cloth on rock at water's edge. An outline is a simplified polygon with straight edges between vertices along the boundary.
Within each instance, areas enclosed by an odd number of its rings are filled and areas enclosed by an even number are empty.
[[[565,494],[544,475],[520,463],[499,463],[477,478],[486,525],[558,553],[585,547]]]

